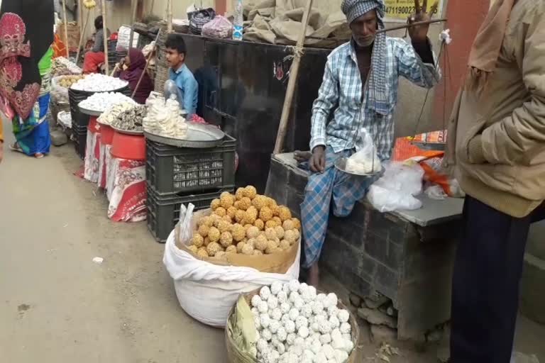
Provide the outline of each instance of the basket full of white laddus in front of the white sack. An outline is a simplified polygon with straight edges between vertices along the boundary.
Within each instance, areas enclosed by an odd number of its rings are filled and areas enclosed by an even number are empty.
[[[276,281],[243,294],[226,325],[231,363],[356,363],[359,328],[336,294]]]

